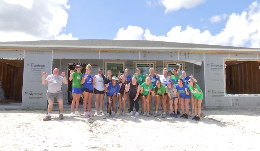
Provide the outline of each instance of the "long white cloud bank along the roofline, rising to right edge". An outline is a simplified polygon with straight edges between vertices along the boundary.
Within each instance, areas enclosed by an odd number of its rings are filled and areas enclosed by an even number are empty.
[[[253,2],[247,11],[228,16],[225,27],[215,35],[191,26],[184,30],[180,26],[173,27],[167,36],[155,36],[149,29],[145,33],[142,31],[140,27],[132,28],[129,32],[121,32],[120,39],[127,37],[128,40],[140,40],[143,34],[144,40],[260,48],[260,3]],[[134,39],[132,35],[138,35],[138,38]]]

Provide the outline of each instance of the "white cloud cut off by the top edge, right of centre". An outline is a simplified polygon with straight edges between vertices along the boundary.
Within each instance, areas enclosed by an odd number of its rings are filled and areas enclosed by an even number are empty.
[[[199,4],[206,2],[206,0],[160,0],[158,2],[166,7],[165,13],[168,13],[170,11],[178,11],[181,8],[195,8]]]

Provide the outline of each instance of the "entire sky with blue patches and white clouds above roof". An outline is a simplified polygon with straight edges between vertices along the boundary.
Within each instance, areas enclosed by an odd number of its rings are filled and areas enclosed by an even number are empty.
[[[260,0],[0,0],[0,41],[155,40],[260,48]]]

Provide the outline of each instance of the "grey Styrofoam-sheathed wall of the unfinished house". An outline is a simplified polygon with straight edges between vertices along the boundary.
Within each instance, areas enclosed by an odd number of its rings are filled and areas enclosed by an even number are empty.
[[[68,73],[68,63],[92,63],[93,75],[97,74],[99,67],[104,68],[104,60],[127,60],[127,68],[130,75],[134,73],[133,61],[156,61],[156,69],[163,69],[163,61],[197,60],[203,61],[202,66],[185,62],[187,75],[193,74],[198,85],[203,90],[203,103],[207,107],[231,106],[233,104],[257,105],[260,97],[250,99],[240,97],[224,96],[224,62],[223,58],[258,58],[256,54],[213,54],[213,53],[175,53],[175,52],[108,52],[108,51],[3,51],[0,58],[23,58],[24,57],[24,78],[22,92],[23,107],[45,107],[47,105],[46,89],[47,85],[41,85],[41,71],[52,73],[52,69],[57,67],[60,71]],[[42,58],[42,59],[41,59]],[[43,59],[44,58],[44,59]],[[33,71],[31,65],[44,65],[37,71]],[[38,68],[38,67],[37,67]],[[95,74],[96,73],[96,74]],[[205,77],[203,78],[205,74]],[[203,84],[205,87],[203,89]],[[64,103],[67,103],[67,86],[62,86],[64,93]],[[205,92],[204,92],[205,91]],[[30,95],[31,93],[31,95]],[[40,94],[38,96],[38,94]],[[32,96],[33,95],[33,96]],[[35,95],[37,95],[35,97]],[[38,98],[37,98],[38,97]],[[245,101],[246,100],[246,101]],[[92,100],[92,103],[94,99]],[[106,102],[106,100],[104,101]]]

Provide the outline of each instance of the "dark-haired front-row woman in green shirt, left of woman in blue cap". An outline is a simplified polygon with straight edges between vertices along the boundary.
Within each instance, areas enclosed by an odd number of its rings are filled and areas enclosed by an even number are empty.
[[[156,117],[158,114],[158,108],[159,108],[159,103],[162,100],[162,106],[163,106],[163,117],[166,117],[166,99],[165,99],[165,87],[163,85],[161,85],[161,81],[157,80],[156,81],[156,85],[154,86],[154,89],[152,91],[152,95],[155,96],[156,95],[156,100],[154,100],[154,102],[156,102],[155,105],[155,114],[154,116]]]

